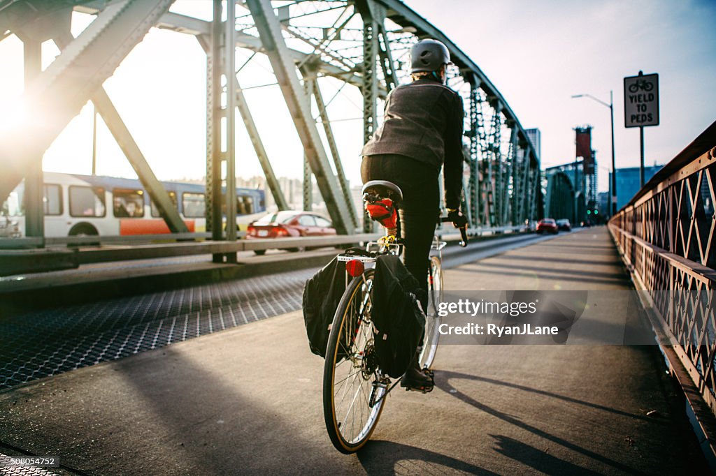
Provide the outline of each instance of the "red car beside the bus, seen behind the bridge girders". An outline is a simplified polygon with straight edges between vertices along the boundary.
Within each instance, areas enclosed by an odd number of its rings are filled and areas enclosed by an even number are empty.
[[[336,234],[333,224],[317,213],[301,210],[284,210],[266,214],[251,222],[246,228],[246,239],[324,237]],[[299,251],[289,248],[289,251]],[[256,254],[266,253],[265,249],[255,249]]]

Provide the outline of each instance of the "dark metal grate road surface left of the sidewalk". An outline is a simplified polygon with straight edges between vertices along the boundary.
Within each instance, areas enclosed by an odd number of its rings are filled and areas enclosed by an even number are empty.
[[[0,321],[0,389],[301,308],[316,269],[140,294]]]

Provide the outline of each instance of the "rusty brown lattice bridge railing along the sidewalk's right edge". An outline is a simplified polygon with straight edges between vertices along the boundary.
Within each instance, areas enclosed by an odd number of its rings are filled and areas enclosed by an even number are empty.
[[[716,413],[715,199],[716,122],[611,218],[609,230],[659,330]]]

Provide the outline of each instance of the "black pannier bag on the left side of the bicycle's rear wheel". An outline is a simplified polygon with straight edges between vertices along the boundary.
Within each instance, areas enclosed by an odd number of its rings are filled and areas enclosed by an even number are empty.
[[[304,323],[311,352],[326,357],[333,316],[346,290],[346,267],[334,258],[306,281],[304,286]]]

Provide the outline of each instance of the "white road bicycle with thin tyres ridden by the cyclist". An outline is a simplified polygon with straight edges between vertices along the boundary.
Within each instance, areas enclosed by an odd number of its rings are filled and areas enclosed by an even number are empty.
[[[400,188],[380,180],[367,182],[363,194],[364,200],[390,198],[393,204],[402,199]],[[440,221],[450,220],[442,217]],[[465,247],[468,241],[466,229],[461,228],[460,233],[463,238],[460,245]],[[338,256],[339,261],[346,262],[348,274],[353,279],[347,284],[331,325],[324,365],[323,406],[331,442],[346,454],[357,452],[366,444],[377,425],[385,397],[400,382],[397,379],[392,383],[379,367],[371,319],[374,264],[382,254],[400,256],[405,245],[397,237],[400,237],[400,215],[395,234],[389,233],[377,242],[369,242],[363,253],[346,252]],[[432,303],[426,313],[420,352],[420,365],[428,372],[431,372],[440,337],[437,304],[442,299],[441,259],[445,245],[437,236],[433,237],[428,273]]]

